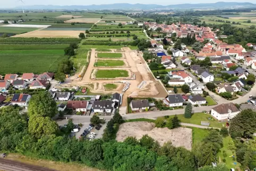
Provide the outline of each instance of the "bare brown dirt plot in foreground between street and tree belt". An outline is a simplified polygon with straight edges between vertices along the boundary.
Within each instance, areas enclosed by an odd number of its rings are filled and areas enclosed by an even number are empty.
[[[128,136],[141,139],[145,134],[157,140],[160,146],[163,146],[167,141],[172,141],[175,147],[184,147],[187,150],[192,148],[192,129],[179,127],[169,130],[167,127],[155,127],[155,124],[150,122],[127,122],[120,125],[116,140],[123,142]]]

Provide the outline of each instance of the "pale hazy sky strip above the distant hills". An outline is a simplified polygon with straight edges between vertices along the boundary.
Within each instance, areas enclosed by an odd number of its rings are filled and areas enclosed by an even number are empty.
[[[17,2],[17,0],[1,0],[1,6],[0,8],[3,7],[16,7],[20,6],[21,2]],[[221,2],[251,2],[255,3],[255,0],[219,0]],[[68,0],[23,0],[25,3],[24,5],[92,5],[92,4],[113,4],[113,3],[130,3],[130,4],[159,4],[159,5],[172,5],[172,4],[185,4],[185,3],[216,3],[219,2],[218,0],[195,0],[191,2],[191,0],[183,0],[183,1],[153,1],[153,0],[109,0],[109,1],[104,1],[104,0],[97,0],[97,1],[88,1],[88,0],[73,0],[73,1],[68,1]]]

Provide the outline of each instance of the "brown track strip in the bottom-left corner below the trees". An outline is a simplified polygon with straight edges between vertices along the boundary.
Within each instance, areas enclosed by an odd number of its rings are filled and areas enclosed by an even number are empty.
[[[19,161],[13,161],[8,159],[0,158],[0,170],[11,170],[11,171],[56,171],[46,167],[28,165]]]

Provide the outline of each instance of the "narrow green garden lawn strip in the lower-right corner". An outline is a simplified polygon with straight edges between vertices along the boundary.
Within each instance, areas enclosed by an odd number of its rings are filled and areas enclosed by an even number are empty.
[[[223,159],[225,158],[226,159],[226,165],[228,168],[239,168],[239,166],[241,165],[240,163],[237,163],[237,161],[233,161],[233,157],[229,157],[229,156],[235,156],[236,158],[236,155],[235,155],[235,152],[233,153],[231,149],[235,149],[235,144],[232,140],[232,138],[230,136],[227,136],[225,138],[223,138],[223,148],[221,148],[217,154],[218,158],[217,160],[219,161],[219,158],[220,158],[220,161],[221,163],[223,163]],[[227,157],[223,157],[223,151],[226,151],[227,153]],[[235,150],[234,150],[235,151]],[[237,163],[237,165],[234,165],[234,162]]]

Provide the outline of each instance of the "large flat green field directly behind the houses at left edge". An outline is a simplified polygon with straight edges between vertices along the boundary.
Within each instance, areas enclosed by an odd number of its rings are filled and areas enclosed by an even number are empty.
[[[0,74],[55,72],[58,63],[69,57],[64,46],[68,45],[1,45]]]

